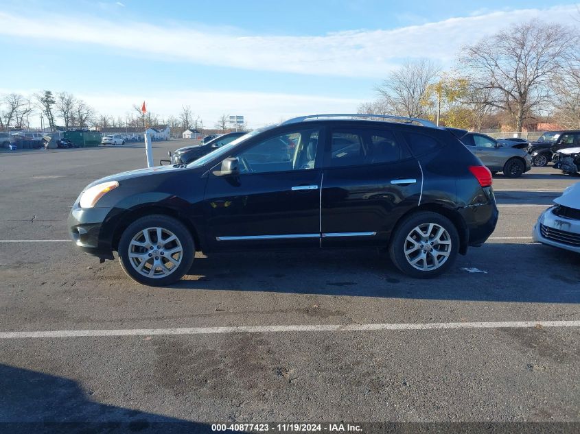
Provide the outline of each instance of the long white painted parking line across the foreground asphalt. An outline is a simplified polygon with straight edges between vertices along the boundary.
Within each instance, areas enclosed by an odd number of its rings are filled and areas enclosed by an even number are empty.
[[[152,335],[214,335],[224,333],[353,332],[376,330],[450,330],[459,328],[580,327],[580,321],[432,322],[408,324],[319,324],[298,326],[232,326],[192,328],[132,328],[120,330],[55,330],[2,332],[0,339],[106,337]]]

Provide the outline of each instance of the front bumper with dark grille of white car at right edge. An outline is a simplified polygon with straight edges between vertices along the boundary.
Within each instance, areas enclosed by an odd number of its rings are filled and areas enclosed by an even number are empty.
[[[537,219],[532,237],[537,243],[580,253],[580,220],[560,217],[548,208]]]

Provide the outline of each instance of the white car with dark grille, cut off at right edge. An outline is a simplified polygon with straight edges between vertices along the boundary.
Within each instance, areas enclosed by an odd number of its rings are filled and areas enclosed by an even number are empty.
[[[537,219],[534,241],[580,253],[580,182],[564,190],[554,203]]]

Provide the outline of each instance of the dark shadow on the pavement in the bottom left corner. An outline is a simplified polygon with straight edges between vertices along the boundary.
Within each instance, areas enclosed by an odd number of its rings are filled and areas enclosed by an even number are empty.
[[[211,426],[100,404],[68,378],[0,364],[3,433],[207,433]]]

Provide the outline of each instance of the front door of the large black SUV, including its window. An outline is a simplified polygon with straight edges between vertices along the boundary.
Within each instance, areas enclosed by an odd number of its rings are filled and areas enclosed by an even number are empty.
[[[240,174],[209,174],[204,208],[215,250],[317,247],[321,132],[312,125],[262,138],[237,157]]]

